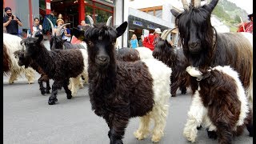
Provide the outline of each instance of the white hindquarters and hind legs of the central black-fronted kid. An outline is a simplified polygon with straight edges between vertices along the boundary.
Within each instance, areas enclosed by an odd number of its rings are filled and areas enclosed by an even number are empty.
[[[153,78],[154,90],[154,106],[153,110],[145,116],[141,117],[140,126],[134,135],[139,140],[146,138],[150,132],[150,118],[154,120],[154,130],[152,142],[158,142],[163,134],[166,126],[166,118],[168,115],[169,98],[170,98],[170,75],[171,69],[157,59],[143,59]]]

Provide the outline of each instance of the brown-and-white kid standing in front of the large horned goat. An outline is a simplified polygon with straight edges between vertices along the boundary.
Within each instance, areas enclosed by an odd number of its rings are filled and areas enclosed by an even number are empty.
[[[184,136],[191,142],[197,137],[197,126],[206,126],[210,138],[219,143],[231,143],[232,137],[242,134],[244,127],[253,136],[252,115],[238,73],[230,66],[216,66],[201,72],[192,66],[186,71],[198,78]],[[216,132],[216,133],[214,133]]]

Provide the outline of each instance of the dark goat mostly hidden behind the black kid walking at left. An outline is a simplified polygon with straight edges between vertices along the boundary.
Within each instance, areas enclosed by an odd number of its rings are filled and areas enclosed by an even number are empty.
[[[34,62],[34,60],[29,57],[25,57],[24,53],[24,50],[17,50],[14,52],[15,57],[18,58],[18,66],[25,66],[25,68],[30,66],[36,70],[38,74],[41,74],[41,77],[38,78],[38,84],[40,87],[39,90],[41,91],[41,94],[50,94],[50,78],[48,78],[48,76],[43,72],[42,68],[38,66],[37,62]],[[42,82],[46,82],[46,88],[43,86]]]

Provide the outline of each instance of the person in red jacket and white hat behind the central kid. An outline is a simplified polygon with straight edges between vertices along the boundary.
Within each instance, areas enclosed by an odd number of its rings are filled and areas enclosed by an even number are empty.
[[[154,45],[158,42],[158,38],[160,38],[160,34],[162,34],[161,30],[156,28],[153,34],[149,34],[144,38],[144,41],[142,42],[143,46],[153,51]]]

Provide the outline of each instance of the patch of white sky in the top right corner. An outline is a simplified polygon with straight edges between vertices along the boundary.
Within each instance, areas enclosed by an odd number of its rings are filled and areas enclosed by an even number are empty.
[[[238,7],[241,7],[243,10],[246,10],[248,14],[253,13],[253,0],[228,0],[235,3]]]

